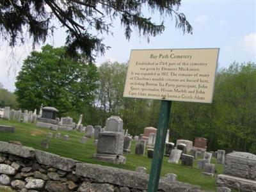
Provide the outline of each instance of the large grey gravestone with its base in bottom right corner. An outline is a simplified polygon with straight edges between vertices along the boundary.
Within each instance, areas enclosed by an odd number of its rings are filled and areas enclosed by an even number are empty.
[[[256,190],[256,156],[247,152],[232,152],[225,157],[223,174],[217,176],[217,186],[237,191]]]

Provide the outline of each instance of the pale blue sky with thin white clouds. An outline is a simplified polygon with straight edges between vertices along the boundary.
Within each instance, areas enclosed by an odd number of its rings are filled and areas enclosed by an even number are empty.
[[[104,44],[111,48],[104,56],[97,56],[96,65],[104,61],[127,62],[131,49],[188,49],[220,48],[218,69],[227,68],[234,61],[256,63],[256,0],[225,1],[195,0],[181,1],[179,12],[186,15],[193,35],[183,34],[175,28],[175,20],[165,21],[164,33],[147,38],[134,29],[131,39],[124,36],[124,28],[119,20],[113,23],[113,36],[104,35]],[[152,16],[156,21],[157,15]],[[65,44],[65,29],[58,29],[45,44],[60,47]],[[42,44],[43,45],[43,44]],[[40,46],[35,47],[40,51]],[[15,90],[15,77],[20,71],[22,61],[32,51],[30,40],[24,45],[8,47],[0,40],[0,83],[4,88]]]

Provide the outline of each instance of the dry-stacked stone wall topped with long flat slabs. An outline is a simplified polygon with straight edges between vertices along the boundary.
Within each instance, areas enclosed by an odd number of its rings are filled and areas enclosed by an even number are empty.
[[[31,147],[0,141],[0,189],[16,191],[139,192],[148,175],[98,164],[81,163]],[[201,191],[198,186],[159,181],[159,191]]]

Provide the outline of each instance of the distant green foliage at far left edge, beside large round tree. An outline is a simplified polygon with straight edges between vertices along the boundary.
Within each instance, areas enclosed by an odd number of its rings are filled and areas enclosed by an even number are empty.
[[[10,106],[12,109],[17,109],[18,103],[16,101],[16,95],[3,88],[3,84],[0,83],[0,108]]]

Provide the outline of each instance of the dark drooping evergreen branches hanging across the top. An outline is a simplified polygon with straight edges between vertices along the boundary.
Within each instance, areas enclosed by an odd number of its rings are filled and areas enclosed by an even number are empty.
[[[54,20],[67,29],[66,45],[70,54],[82,51],[93,58],[93,51],[104,53],[108,48],[99,34],[111,33],[112,22],[120,19],[124,35],[129,40],[132,29],[143,36],[156,36],[164,31],[164,21],[175,17],[176,28],[192,33],[192,27],[183,13],[177,12],[181,0],[1,0],[0,31],[5,40],[13,46],[17,39],[24,42],[24,31],[33,37],[33,43],[45,42],[56,28]],[[143,10],[151,15],[158,12],[163,18],[158,24],[143,16]],[[148,14],[148,13],[147,13]],[[96,35],[93,35],[96,31]]]

